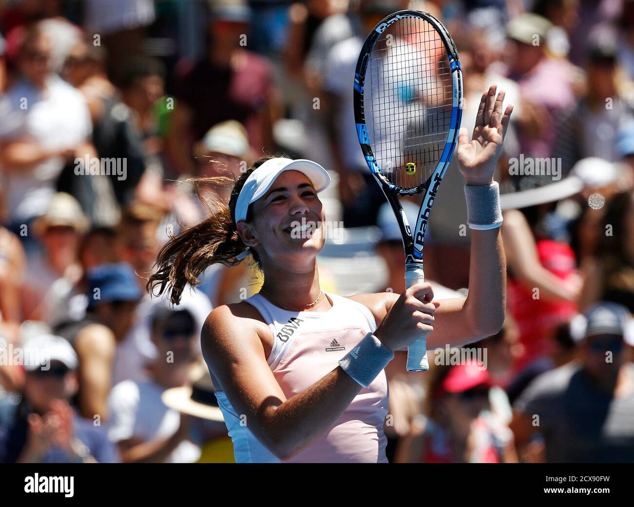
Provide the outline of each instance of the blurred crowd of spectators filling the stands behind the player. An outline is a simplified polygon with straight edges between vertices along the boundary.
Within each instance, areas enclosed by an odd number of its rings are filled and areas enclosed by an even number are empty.
[[[366,35],[404,8],[455,39],[463,126],[492,83],[515,112],[496,175],[507,320],[467,359],[388,365],[388,458],[634,461],[634,1],[0,0],[0,462],[233,461],[200,330],[261,274],[213,266],[177,306],[145,286],[262,155],[332,174],[348,233],[325,290],[404,290],[352,102]],[[439,299],[469,285],[458,174],[425,240]]]

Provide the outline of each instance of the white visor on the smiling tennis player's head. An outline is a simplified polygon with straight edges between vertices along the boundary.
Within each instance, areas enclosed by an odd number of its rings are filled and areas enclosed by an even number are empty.
[[[312,160],[306,160],[305,158],[297,160],[281,157],[271,158],[271,160],[267,160],[249,174],[242,190],[240,190],[235,210],[236,224],[241,220],[247,219],[247,209],[249,209],[250,203],[256,202],[266,194],[271,185],[275,183],[277,177],[285,170],[299,170],[299,172],[305,174],[317,193],[325,190],[330,185],[330,174],[328,174],[328,171]]]

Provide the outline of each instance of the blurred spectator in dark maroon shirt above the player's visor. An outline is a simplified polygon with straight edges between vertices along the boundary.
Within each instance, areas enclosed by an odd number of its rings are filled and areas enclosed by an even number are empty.
[[[236,120],[247,129],[256,157],[273,151],[276,92],[266,60],[240,41],[249,32],[251,10],[245,0],[210,3],[207,55],[187,70],[176,89],[176,108],[166,150],[181,174],[196,174],[193,144],[209,127]]]

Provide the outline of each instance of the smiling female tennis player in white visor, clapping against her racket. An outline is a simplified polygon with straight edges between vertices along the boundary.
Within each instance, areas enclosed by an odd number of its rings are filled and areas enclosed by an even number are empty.
[[[512,112],[502,112],[503,99],[491,86],[472,140],[466,129],[458,138],[467,185],[493,189],[469,203],[480,220],[467,298],[434,302],[429,283],[402,295],[323,292],[316,259],[326,217],[318,194],[330,177],[309,160],[262,158],[236,181],[228,207],[162,249],[148,288],[171,291],[173,302],[216,262],[231,266],[250,254],[262,270],[260,292],[214,309],[201,336],[236,462],[385,463],[383,369],[394,352],[422,335],[433,350],[500,330],[506,270],[493,169]],[[316,226],[313,234],[306,224]]]

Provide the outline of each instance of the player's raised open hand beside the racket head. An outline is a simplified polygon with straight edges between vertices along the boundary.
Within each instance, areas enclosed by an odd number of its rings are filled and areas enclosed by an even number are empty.
[[[482,95],[471,142],[465,127],[458,134],[458,167],[468,185],[493,183],[493,171],[513,112],[513,105],[508,105],[502,114],[505,93],[500,91],[496,98],[496,89],[493,84]]]

